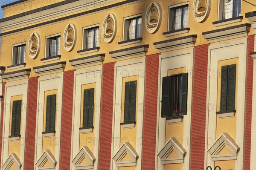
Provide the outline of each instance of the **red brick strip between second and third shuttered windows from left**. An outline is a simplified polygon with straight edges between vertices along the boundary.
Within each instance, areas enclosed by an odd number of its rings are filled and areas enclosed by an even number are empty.
[[[60,170],[70,169],[72,115],[73,115],[73,89],[74,71],[64,72],[61,116],[61,157]]]

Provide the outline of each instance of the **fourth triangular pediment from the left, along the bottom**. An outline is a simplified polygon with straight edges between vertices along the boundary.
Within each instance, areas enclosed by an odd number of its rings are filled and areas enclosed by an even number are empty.
[[[116,161],[116,167],[136,166],[138,158],[138,153],[129,142],[123,143],[116,155],[113,156],[113,160]]]

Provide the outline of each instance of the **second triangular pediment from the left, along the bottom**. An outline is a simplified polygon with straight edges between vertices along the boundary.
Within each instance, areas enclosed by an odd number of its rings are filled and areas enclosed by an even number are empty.
[[[39,160],[36,162],[38,170],[54,170],[57,161],[50,150],[45,150]]]

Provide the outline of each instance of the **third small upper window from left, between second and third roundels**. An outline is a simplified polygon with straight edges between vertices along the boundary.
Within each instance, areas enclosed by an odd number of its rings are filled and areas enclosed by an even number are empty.
[[[84,29],[84,46],[83,49],[90,49],[99,46],[99,26]]]

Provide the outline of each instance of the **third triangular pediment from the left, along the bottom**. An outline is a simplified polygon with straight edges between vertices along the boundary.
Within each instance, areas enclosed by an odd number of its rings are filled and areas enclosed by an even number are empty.
[[[93,153],[87,146],[83,146],[72,163],[75,165],[76,170],[93,169],[93,163],[96,160]]]

